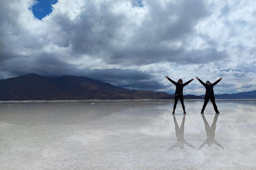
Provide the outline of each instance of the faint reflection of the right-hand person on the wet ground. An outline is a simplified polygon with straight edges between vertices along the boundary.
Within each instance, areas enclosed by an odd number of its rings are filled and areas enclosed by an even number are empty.
[[[212,122],[212,125],[210,127],[210,125],[208,124],[208,122],[206,121],[206,118],[204,117],[204,114],[201,114],[204,120],[204,124],[205,124],[205,131],[206,131],[206,135],[207,135],[207,139],[205,140],[205,142],[199,147],[199,149],[202,149],[205,144],[207,143],[208,146],[212,146],[213,143],[215,143],[217,146],[221,147],[222,149],[224,149],[220,143],[218,143],[217,141],[215,141],[215,130],[216,130],[216,123],[218,120],[218,116],[219,114],[215,114],[214,116],[214,120]],[[198,149],[198,150],[199,150]]]

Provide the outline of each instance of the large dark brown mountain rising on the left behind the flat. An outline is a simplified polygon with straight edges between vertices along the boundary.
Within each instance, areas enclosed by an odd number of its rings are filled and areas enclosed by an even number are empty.
[[[0,100],[173,99],[165,92],[129,90],[87,77],[27,74],[0,80]],[[184,98],[202,98],[187,95]]]

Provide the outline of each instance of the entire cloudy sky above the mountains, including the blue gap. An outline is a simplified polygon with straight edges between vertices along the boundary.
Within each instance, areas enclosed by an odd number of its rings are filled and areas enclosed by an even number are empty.
[[[256,89],[256,1],[1,0],[0,79],[74,75],[183,94]]]

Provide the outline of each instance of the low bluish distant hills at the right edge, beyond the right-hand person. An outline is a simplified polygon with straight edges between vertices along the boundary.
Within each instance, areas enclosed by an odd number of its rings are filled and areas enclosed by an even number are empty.
[[[203,97],[202,95],[201,97]],[[239,94],[222,94],[214,95],[217,99],[254,99],[256,98],[256,90],[248,92],[239,92]]]

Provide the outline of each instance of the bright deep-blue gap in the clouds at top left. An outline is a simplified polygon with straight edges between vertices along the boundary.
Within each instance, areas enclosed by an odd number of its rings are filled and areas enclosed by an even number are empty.
[[[37,3],[32,6],[32,12],[35,18],[42,20],[46,15],[52,12],[52,4],[56,4],[58,0],[37,0]]]

